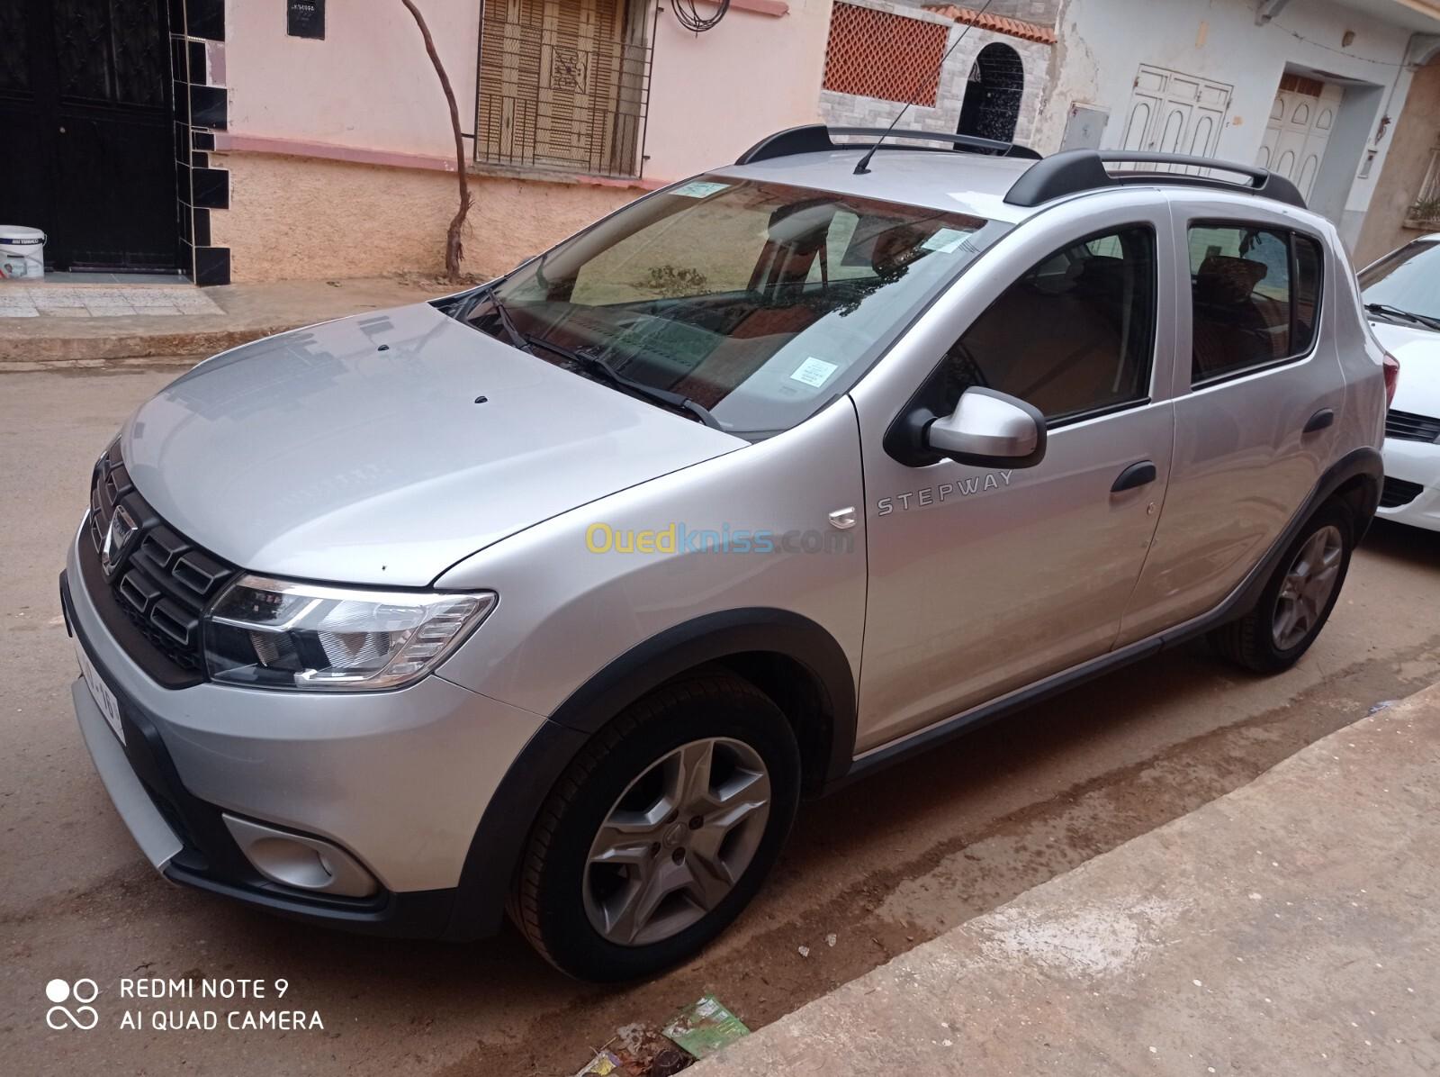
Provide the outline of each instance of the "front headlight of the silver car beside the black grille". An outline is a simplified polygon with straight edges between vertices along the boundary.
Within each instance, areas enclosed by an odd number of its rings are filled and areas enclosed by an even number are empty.
[[[351,590],[242,576],[204,619],[204,659],[225,684],[396,688],[435,668],[494,592]]]

